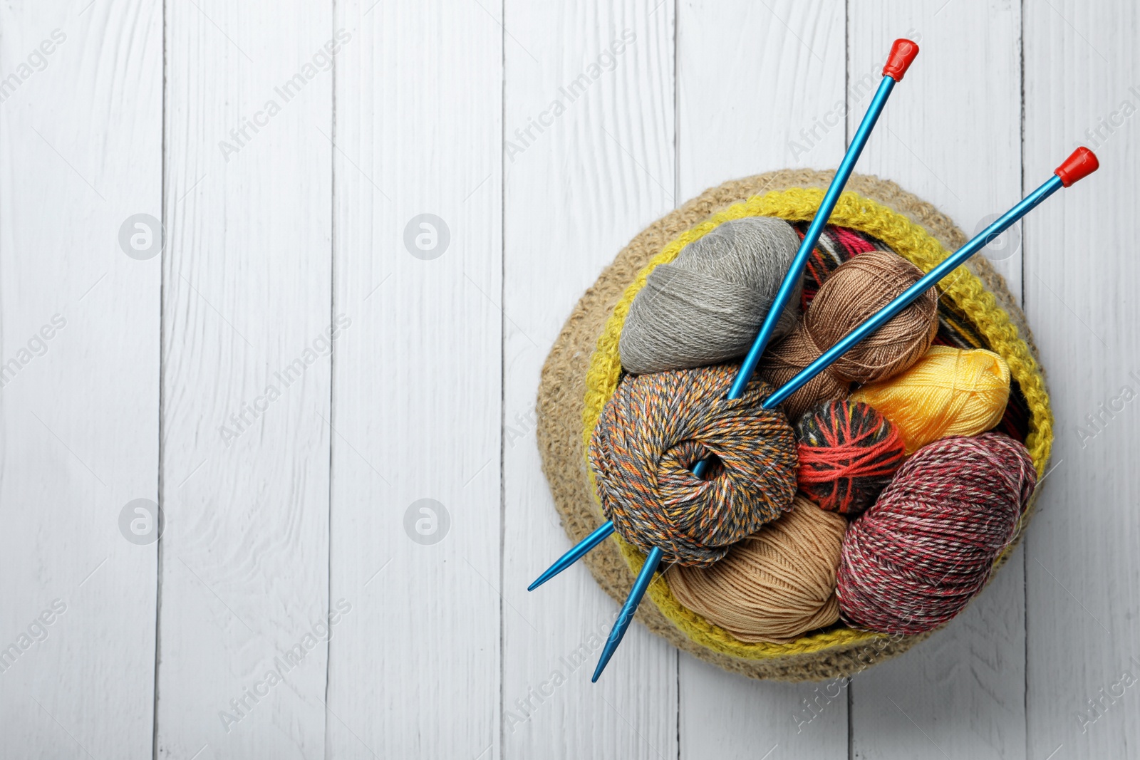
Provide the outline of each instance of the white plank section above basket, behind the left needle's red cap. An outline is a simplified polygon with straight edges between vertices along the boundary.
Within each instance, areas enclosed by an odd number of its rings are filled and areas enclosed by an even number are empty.
[[[856,0],[849,24],[849,132],[879,85],[890,43],[906,36],[920,49],[857,171],[898,182],[974,237],[1020,197],[1020,3]],[[984,255],[1020,297],[1019,229]]]

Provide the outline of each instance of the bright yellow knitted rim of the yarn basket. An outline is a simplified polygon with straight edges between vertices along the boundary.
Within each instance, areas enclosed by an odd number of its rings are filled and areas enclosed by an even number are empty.
[[[613,312],[606,319],[602,334],[597,338],[597,348],[591,358],[586,375],[586,407],[583,410],[584,450],[589,448],[589,439],[601,417],[602,407],[605,406],[618,386],[618,379],[621,376],[621,359],[618,353],[621,328],[629,313],[629,304],[633,303],[637,292],[645,286],[645,278],[649,277],[649,273],[659,264],[673,261],[683,247],[708,235],[726,221],[744,216],[779,216],[790,222],[808,221],[815,215],[822,199],[823,190],[819,188],[791,188],[755,195],[682,232],[650,260],[625,289],[621,300],[613,308]],[[950,255],[950,252],[922,227],[903,214],[856,193],[846,191],[839,196],[839,202],[836,204],[828,223],[858,230],[881,240],[925,272],[934,269]],[[1029,407],[1029,434],[1026,438],[1026,447],[1033,457],[1033,464],[1040,480],[1044,476],[1053,443],[1052,414],[1049,408],[1049,394],[1045,392],[1044,377],[1028,344],[1018,335],[1017,326],[1010,320],[1009,313],[996,304],[994,295],[986,291],[982,280],[964,265],[959,267],[943,279],[938,285],[938,291],[940,297],[950,299],[974,322],[978,333],[986,340],[990,350],[1000,353],[1005,359],[1010,375],[1020,385],[1021,393]],[[586,471],[589,473],[594,501],[601,509],[594,473],[588,466]],[[1026,509],[1018,525],[1018,534],[1020,534],[1028,517],[1029,509]],[[645,562],[645,555],[622,540],[617,533],[614,533],[614,538],[629,570],[636,575]],[[1013,542],[1010,542],[995,559],[995,567],[1005,559],[1012,548]],[[648,595],[661,613],[697,644],[734,657],[767,660],[891,638],[885,634],[838,627],[808,634],[787,644],[741,641],[719,626],[683,607],[673,596],[665,577],[661,575],[658,580],[660,582],[650,585]]]

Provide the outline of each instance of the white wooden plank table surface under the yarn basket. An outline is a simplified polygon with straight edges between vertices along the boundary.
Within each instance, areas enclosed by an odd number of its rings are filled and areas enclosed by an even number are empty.
[[[1138,16],[3,3],[3,757],[1134,753]],[[568,546],[543,359],[652,220],[834,166],[903,35],[922,54],[857,171],[972,232],[1076,144],[1102,163],[992,254],[1057,415],[1026,541],[849,685],[750,681],[635,626],[592,686],[613,602],[581,566],[524,590]]]

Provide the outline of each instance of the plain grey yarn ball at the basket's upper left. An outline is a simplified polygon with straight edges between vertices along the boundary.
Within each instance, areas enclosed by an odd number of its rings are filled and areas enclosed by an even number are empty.
[[[799,247],[791,224],[746,216],[718,224],[649,273],[629,304],[619,352],[627,373],[715,365],[748,353]],[[776,324],[791,332],[799,288]]]

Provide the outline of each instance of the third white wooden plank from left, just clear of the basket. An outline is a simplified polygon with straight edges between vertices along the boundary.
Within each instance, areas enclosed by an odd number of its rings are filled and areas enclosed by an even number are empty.
[[[353,35],[335,155],[336,310],[352,326],[331,564],[332,599],[353,608],[331,647],[328,755],[496,758],[514,614],[499,596],[504,32],[486,2],[336,14]]]

